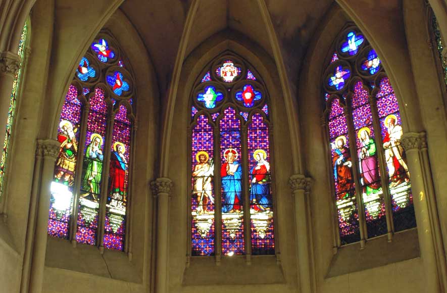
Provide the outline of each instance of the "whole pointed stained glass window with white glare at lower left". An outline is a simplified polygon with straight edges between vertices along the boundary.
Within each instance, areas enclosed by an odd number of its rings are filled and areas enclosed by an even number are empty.
[[[100,34],[79,62],[62,107],[48,234],[123,251],[130,194],[133,77]]]

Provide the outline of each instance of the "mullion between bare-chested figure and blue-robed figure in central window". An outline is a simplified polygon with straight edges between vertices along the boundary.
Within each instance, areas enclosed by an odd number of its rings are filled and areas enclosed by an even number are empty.
[[[214,256],[220,265],[222,258],[222,194],[220,176],[220,129],[216,122],[214,127]]]

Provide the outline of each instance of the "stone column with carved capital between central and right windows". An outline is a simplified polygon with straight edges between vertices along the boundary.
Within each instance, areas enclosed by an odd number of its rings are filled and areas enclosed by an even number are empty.
[[[312,267],[310,247],[310,231],[307,197],[309,197],[311,179],[304,175],[292,175],[289,179],[292,195],[295,201],[295,241],[300,278],[300,292],[312,292]]]

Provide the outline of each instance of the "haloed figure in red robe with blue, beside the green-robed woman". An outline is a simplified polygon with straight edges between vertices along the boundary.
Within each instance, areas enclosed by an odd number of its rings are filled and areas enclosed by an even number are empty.
[[[116,200],[125,200],[127,160],[124,157],[126,147],[122,142],[113,144],[110,157],[110,193]]]

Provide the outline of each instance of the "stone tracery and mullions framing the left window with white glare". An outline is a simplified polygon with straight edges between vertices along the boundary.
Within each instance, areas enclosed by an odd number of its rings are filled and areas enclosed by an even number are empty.
[[[98,55],[96,52],[92,50],[92,44],[97,43],[101,39],[106,39],[108,41],[108,48],[112,50],[115,56],[111,62],[105,61],[102,62],[98,60]],[[130,154],[130,160],[127,162],[127,191],[126,191],[126,211],[125,211],[125,227],[124,227],[124,245],[121,249],[117,249],[117,247],[111,249],[121,250],[124,252],[129,251],[130,246],[130,211],[131,211],[131,196],[132,193],[132,166],[134,160],[134,140],[135,140],[135,132],[136,132],[136,117],[135,117],[135,100],[136,100],[136,89],[134,88],[135,80],[133,78],[132,68],[130,67],[130,63],[127,61],[127,58],[124,54],[124,51],[119,46],[116,38],[107,30],[100,32],[94,40],[90,43],[87,52],[80,60],[81,62],[84,58],[87,58],[89,67],[92,67],[96,71],[96,75],[92,78],[87,78],[86,80],[81,80],[78,75],[78,70],[75,72],[75,76],[70,85],[71,88],[75,88],[77,91],[76,99],[81,104],[81,115],[80,115],[80,123],[79,123],[79,140],[78,140],[78,151],[76,156],[76,167],[75,167],[75,175],[74,175],[74,184],[73,184],[73,197],[72,204],[70,210],[70,218],[68,222],[68,235],[62,238],[67,238],[72,241],[73,245],[76,245],[78,242],[76,239],[77,228],[78,228],[78,216],[79,216],[79,201],[81,198],[82,192],[82,177],[84,175],[85,160],[84,160],[84,152],[86,148],[86,140],[87,136],[87,120],[89,118],[89,114],[91,113],[90,100],[95,96],[96,90],[102,90],[104,93],[104,102],[106,104],[107,113],[105,117],[105,130],[104,130],[104,142],[103,142],[103,156],[104,159],[102,161],[102,174],[101,174],[101,191],[100,191],[100,201],[98,202],[98,221],[97,228],[95,232],[95,241],[94,243],[90,243],[91,245],[97,246],[100,250],[104,250],[104,235],[106,234],[105,225],[106,225],[106,209],[108,205],[109,198],[109,187],[110,187],[110,163],[111,163],[111,146],[112,142],[115,140],[114,136],[114,126],[116,124],[116,119],[118,114],[120,113],[120,109],[126,110],[125,118],[128,120],[130,124],[130,150],[126,150],[127,153]],[[118,95],[111,88],[112,85],[108,84],[109,76],[114,76],[116,72],[119,71],[123,74],[123,81],[127,81],[129,85],[129,90],[123,91],[121,95]],[[70,92],[69,89],[69,92]],[[69,93],[67,93],[68,96]],[[65,102],[66,103],[66,102]],[[64,104],[65,105],[65,104]],[[114,147],[114,146],[113,146]],[[127,156],[128,157],[128,156]],[[56,165],[57,166],[56,160]],[[55,169],[56,174],[56,169]],[[109,198],[109,199],[108,199]],[[52,199],[53,200],[53,199]],[[52,202],[53,203],[53,202]],[[106,205],[107,204],[107,205]],[[49,229],[49,225],[48,225]]]

